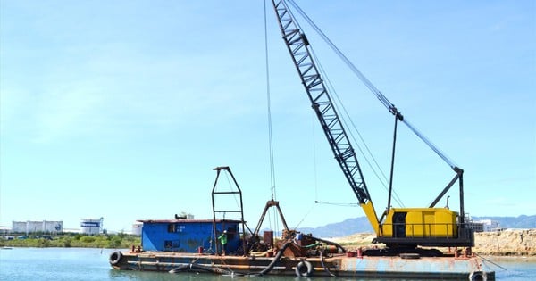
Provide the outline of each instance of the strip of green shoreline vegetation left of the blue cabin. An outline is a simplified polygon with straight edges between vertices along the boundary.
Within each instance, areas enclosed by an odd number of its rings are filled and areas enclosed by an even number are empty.
[[[61,234],[54,236],[0,236],[0,247],[76,247],[125,249],[140,245],[139,236],[126,234],[88,236]]]

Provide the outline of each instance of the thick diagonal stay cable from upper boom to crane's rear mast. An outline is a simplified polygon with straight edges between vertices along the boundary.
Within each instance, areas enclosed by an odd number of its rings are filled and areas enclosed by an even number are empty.
[[[288,2],[290,4],[292,4],[292,6],[297,10],[297,12],[299,12],[302,17],[311,25],[311,27],[318,33],[318,35],[320,35],[320,37],[322,37],[322,39],[326,42],[326,44],[330,45],[331,49],[333,50],[333,52],[335,52],[336,54],[339,55],[339,58],[345,62],[348,66],[348,68],[352,71],[354,71],[354,73],[356,74],[356,76],[361,79],[361,81],[364,83],[364,85],[366,87],[368,87],[374,95],[376,95],[376,97],[380,100],[381,103],[383,103],[383,105],[389,110],[389,112],[397,115],[397,117],[399,117],[399,120],[402,121],[404,124],[406,124],[406,126],[415,133],[416,136],[418,136],[419,138],[421,138],[421,140],[423,140],[423,142],[428,145],[431,150],[438,154],[438,156],[440,156],[440,158],[445,161],[448,166],[450,166],[450,168],[452,169],[457,169],[457,165],[454,161],[450,160],[450,158],[448,158],[448,156],[441,152],[440,149],[434,145],[433,143],[431,143],[431,141],[426,137],[424,136],[421,132],[419,132],[413,125],[411,125],[411,123],[409,123],[406,118],[403,118],[402,117],[402,114],[400,114],[400,112],[398,112],[397,108],[395,107],[395,105],[391,102],[389,102],[389,100],[387,99],[387,97],[383,94],[381,94],[381,91],[374,87],[373,83],[367,79],[364,74],[359,71],[356,66],[350,62],[348,60],[348,58],[342,54],[342,52],[340,52],[339,48],[333,44],[333,42],[331,42],[330,38],[327,37],[321,29],[319,29],[315,24],[314,22],[306,15],[306,13],[301,10],[301,8],[293,1],[293,0],[288,0]]]

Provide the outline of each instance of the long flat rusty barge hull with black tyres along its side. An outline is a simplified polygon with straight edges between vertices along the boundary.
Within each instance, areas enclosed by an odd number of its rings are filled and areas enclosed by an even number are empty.
[[[221,256],[186,252],[114,252],[110,257],[113,269],[208,271],[237,275],[258,275],[270,266],[272,260],[273,257]],[[297,270],[297,267],[300,269]],[[306,277],[495,280],[495,272],[484,269],[482,260],[478,257],[348,257],[342,253],[326,258],[282,257],[267,274],[286,276],[301,274]]]

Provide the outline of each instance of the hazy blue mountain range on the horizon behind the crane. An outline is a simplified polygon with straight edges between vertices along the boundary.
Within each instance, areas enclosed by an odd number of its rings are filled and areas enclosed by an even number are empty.
[[[536,228],[536,215],[532,216],[518,216],[518,217],[472,217],[473,221],[482,219],[490,219],[498,222],[500,228]],[[331,223],[322,227],[300,227],[298,231],[306,234],[313,234],[316,237],[341,237],[349,236],[360,232],[373,233],[373,227],[371,227],[366,217],[359,217],[355,219],[345,219],[338,223]]]

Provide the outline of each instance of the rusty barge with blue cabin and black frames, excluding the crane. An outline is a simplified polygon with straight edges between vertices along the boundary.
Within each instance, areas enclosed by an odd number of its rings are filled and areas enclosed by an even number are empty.
[[[422,278],[495,280],[495,272],[472,254],[471,248],[440,252],[421,247],[361,247],[348,250],[323,238],[289,229],[279,202],[270,200],[254,231],[244,219],[217,219],[216,214],[239,213],[243,218],[241,190],[229,167],[218,172],[213,187],[213,219],[144,219],[141,244],[130,251],[113,252],[113,269],[207,272],[230,276],[281,275],[297,277]],[[218,191],[221,171],[230,174],[236,187]],[[239,210],[219,210],[217,195],[235,194]],[[272,207],[283,230],[261,233],[264,216]],[[225,238],[222,239],[222,236]],[[277,237],[276,237],[277,236]]]

